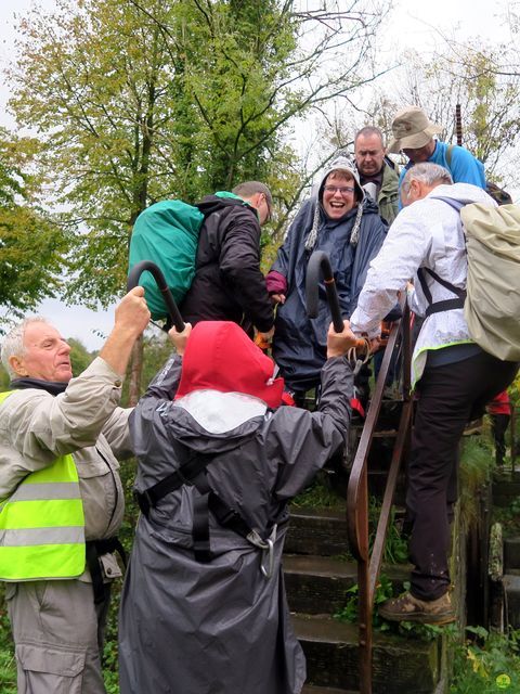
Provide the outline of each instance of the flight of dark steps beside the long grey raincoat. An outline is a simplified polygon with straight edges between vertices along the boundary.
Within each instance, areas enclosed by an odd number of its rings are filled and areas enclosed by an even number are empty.
[[[358,626],[333,617],[356,583],[356,565],[344,557],[346,538],[344,510],[292,510],[284,575],[294,628],[307,657],[304,694],[359,692]],[[399,592],[408,570],[389,565],[382,573]],[[376,630],[373,664],[374,694],[443,692],[440,638],[419,641]]]

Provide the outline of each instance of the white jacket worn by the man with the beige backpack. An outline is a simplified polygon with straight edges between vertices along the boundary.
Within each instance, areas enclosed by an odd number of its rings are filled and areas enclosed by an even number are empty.
[[[483,203],[496,206],[495,201],[480,188],[469,183],[438,185],[425,198],[400,211],[390,227],[379,254],[370,262],[358,308],[351,317],[351,329],[379,334],[380,321],[395,306],[398,292],[404,292],[414,279],[415,297],[411,306],[424,316],[428,301],[417,279],[418,268],[430,268],[439,277],[459,288],[466,288],[468,272],[466,242],[459,213],[440,197],[464,204]],[[426,273],[433,301],[453,299],[455,295]],[[463,309],[429,316],[414,349],[412,381],[422,374],[427,350],[450,345],[471,343]]]

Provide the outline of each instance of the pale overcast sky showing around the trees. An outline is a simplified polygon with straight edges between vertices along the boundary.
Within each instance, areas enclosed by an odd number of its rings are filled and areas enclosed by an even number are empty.
[[[302,0],[312,9],[312,0]],[[314,3],[316,4],[316,3]],[[424,51],[425,54],[442,46],[442,35],[461,40],[481,36],[496,42],[511,40],[507,25],[500,15],[508,7],[519,2],[505,0],[420,0],[394,2],[392,18],[381,41],[381,53],[395,61],[406,48]],[[55,8],[54,0],[0,0],[0,70],[13,55],[13,26],[27,11],[39,5],[47,10]],[[317,5],[316,5],[317,7]],[[0,73],[0,125],[13,127],[5,112],[10,87]],[[65,337],[80,339],[89,350],[99,349],[109,332],[113,310],[90,311],[82,307],[65,307],[54,300],[43,301],[40,313],[51,320]]]

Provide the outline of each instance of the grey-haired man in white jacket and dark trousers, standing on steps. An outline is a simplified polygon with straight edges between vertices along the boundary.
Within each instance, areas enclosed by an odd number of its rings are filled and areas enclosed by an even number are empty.
[[[450,172],[437,164],[417,164],[407,171],[402,183],[405,209],[372,261],[351,318],[354,332],[377,337],[380,320],[414,278],[412,309],[426,316],[412,360],[419,399],[406,506],[415,568],[410,592],[379,607],[382,617],[395,621],[455,619],[447,553],[457,496],[458,442],[466,423],[483,412],[518,370],[518,363],[483,351],[469,335],[463,310],[468,267],[464,230],[460,214],[448,200],[496,205],[476,185],[452,184]]]

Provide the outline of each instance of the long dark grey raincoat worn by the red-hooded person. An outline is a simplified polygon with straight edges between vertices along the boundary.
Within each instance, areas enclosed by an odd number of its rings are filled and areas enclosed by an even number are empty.
[[[119,625],[121,694],[298,694],[304,656],[289,624],[282,574],[287,504],[344,445],[353,378],[343,358],[322,371],[320,411],[280,407],[220,434],[206,430],[172,401],[176,357],[148,387],[130,419],[143,491],[186,460],[214,454],[212,490],[268,537],[277,525],[274,570],[266,556],[210,519],[212,558],[192,551],[198,492],[183,486],[141,514],[125,582]]]

